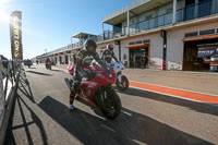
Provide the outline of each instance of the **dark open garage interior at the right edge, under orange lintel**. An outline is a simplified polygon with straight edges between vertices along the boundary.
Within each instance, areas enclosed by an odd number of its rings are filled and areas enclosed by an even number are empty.
[[[183,71],[210,71],[213,55],[218,55],[218,37],[184,39]]]

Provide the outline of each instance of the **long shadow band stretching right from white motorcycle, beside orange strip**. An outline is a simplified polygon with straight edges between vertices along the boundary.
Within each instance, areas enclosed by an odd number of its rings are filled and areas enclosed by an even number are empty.
[[[174,98],[171,96],[160,95],[160,94],[150,93],[150,92],[146,92],[146,90],[137,89],[137,88],[131,88],[131,87],[128,88],[128,90],[125,90],[125,92],[120,92],[120,90],[118,90],[118,92],[121,94],[131,95],[134,97],[143,97],[143,98],[164,101],[164,102],[168,102],[168,104],[172,104],[172,105],[177,105],[177,106],[187,107],[192,110],[195,110],[195,111],[198,111],[202,113],[218,116],[218,107],[215,107],[215,106],[211,106],[208,104],[195,102],[195,101],[191,101],[191,100]]]

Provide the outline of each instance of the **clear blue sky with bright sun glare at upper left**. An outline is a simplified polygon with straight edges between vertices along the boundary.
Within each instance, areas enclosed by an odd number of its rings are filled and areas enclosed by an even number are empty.
[[[31,59],[45,49],[69,45],[70,37],[78,32],[101,34],[102,17],[134,1],[0,0],[0,55],[11,59],[9,20],[13,11],[22,11],[23,56]]]

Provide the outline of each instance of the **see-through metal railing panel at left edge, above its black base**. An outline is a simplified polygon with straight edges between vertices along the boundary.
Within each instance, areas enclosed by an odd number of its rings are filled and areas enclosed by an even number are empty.
[[[19,61],[0,59],[0,126],[8,107],[9,95],[15,86],[20,68],[21,63]]]

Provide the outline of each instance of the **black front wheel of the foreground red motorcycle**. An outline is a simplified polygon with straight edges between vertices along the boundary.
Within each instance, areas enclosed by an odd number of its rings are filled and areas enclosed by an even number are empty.
[[[107,95],[107,97],[105,97]],[[104,102],[100,107],[102,113],[108,119],[116,119],[121,111],[121,100],[118,94],[113,89],[106,90],[101,94]]]

